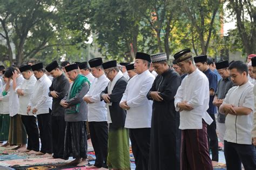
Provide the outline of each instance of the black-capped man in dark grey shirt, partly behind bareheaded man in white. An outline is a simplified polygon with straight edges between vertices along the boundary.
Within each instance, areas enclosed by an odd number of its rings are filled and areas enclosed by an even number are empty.
[[[216,63],[216,69],[222,77],[218,82],[218,88],[215,92],[215,97],[213,100],[213,104],[217,107],[219,107],[223,103],[223,100],[226,97],[228,90],[230,90],[231,87],[234,86],[234,83],[232,82],[230,77],[230,71],[228,70],[228,66],[229,64],[227,60]],[[220,114],[220,112],[218,111],[217,131],[218,137],[222,142],[224,142],[224,134],[226,131],[225,118],[226,115]]]

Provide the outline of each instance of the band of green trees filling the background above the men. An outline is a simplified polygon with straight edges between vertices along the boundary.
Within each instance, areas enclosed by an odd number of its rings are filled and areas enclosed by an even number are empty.
[[[220,56],[233,50],[255,52],[255,7],[251,1],[228,1],[238,31],[220,34],[224,1],[216,0],[0,0],[0,37],[12,63],[30,58],[49,63],[88,59],[86,41],[106,59],[132,62],[137,51],[166,52],[189,47],[196,55]],[[241,3],[242,2],[242,3]],[[21,8],[22,6],[22,8]],[[245,19],[245,13],[250,17]],[[239,19],[240,18],[240,19]],[[97,56],[94,56],[97,57]]]

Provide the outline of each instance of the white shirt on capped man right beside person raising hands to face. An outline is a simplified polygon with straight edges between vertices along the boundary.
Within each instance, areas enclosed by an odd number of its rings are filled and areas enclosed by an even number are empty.
[[[23,83],[16,87],[15,92],[17,93],[18,89],[21,89],[24,93],[23,96],[19,96],[19,110],[18,114],[28,115],[26,113],[27,106],[29,104],[29,99],[32,95],[33,88],[36,84],[36,77],[32,75],[28,80],[24,79]],[[33,115],[32,112],[29,112],[29,115]]]

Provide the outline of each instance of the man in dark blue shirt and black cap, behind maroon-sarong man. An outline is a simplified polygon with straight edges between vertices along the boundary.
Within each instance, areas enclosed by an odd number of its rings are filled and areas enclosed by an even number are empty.
[[[194,62],[196,63],[198,69],[204,72],[209,80],[210,100],[207,113],[211,116],[213,122],[211,125],[207,125],[207,137],[209,142],[209,149],[212,151],[212,164],[215,165],[219,161],[219,145],[215,121],[215,113],[217,113],[217,108],[212,104],[212,102],[214,99],[215,91],[217,90],[217,75],[211,71],[209,65],[207,64],[206,55],[194,57]]]

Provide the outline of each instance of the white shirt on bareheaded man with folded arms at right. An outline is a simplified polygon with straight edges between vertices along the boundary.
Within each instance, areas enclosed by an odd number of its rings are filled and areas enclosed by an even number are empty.
[[[241,86],[234,86],[228,90],[223,104],[247,107],[252,110],[248,115],[227,114],[225,119],[226,131],[224,140],[236,144],[252,144],[252,126],[254,111],[253,84],[248,81]]]

